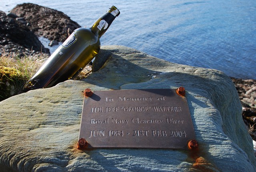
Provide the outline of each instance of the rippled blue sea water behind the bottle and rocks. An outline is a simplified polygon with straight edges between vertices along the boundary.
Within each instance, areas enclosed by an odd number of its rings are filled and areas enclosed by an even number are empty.
[[[24,2],[62,11],[81,26],[114,5],[121,13],[102,45],[256,79],[256,0],[0,0],[0,10]]]

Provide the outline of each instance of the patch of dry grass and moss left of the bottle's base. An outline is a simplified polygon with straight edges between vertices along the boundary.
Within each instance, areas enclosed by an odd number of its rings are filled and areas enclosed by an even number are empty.
[[[20,58],[14,53],[0,56],[0,101],[22,93],[28,79],[42,66],[45,56]]]

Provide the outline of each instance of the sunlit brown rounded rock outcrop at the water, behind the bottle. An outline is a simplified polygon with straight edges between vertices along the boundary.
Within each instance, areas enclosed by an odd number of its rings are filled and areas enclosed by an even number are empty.
[[[66,40],[68,28],[71,33],[76,28],[81,27],[63,12],[32,3],[17,5],[10,12],[25,18],[31,24],[29,28],[37,36],[44,36],[49,40],[58,42]]]

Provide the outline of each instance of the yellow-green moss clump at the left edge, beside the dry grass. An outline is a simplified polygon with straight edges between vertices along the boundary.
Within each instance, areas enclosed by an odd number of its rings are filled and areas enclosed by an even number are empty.
[[[26,80],[15,68],[0,66],[0,101],[20,94],[25,82]]]

